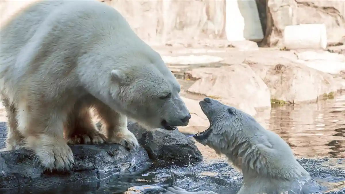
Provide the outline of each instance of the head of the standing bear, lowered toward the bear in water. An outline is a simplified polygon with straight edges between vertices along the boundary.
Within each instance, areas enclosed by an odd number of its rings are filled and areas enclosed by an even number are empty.
[[[111,98],[115,110],[143,127],[175,130],[188,125],[191,116],[175,76],[157,61],[112,70]]]

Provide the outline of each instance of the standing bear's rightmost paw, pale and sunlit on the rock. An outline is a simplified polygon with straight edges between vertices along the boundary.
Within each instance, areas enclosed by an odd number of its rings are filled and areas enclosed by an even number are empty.
[[[134,149],[139,146],[137,138],[129,130],[124,130],[116,133],[107,141],[110,144],[121,144],[126,149]]]

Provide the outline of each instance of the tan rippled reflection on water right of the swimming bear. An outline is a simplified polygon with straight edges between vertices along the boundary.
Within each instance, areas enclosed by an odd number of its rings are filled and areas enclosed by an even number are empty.
[[[269,129],[292,147],[297,157],[345,157],[345,96],[273,108]]]

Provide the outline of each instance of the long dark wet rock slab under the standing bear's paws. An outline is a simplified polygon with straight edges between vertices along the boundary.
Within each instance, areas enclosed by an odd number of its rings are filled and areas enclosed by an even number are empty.
[[[126,175],[149,167],[144,148],[128,152],[120,145],[73,145],[75,166],[69,173],[43,172],[36,156],[28,150],[0,152],[0,188],[50,186],[89,182],[110,174]]]

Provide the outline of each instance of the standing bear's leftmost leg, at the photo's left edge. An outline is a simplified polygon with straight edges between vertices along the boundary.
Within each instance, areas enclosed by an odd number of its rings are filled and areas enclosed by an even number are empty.
[[[2,103],[5,107],[7,114],[7,138],[6,138],[6,148],[3,148],[1,151],[11,151],[14,149],[20,149],[24,145],[23,136],[18,131],[16,112],[17,109],[14,104],[10,104],[10,100],[6,95],[2,95]]]

